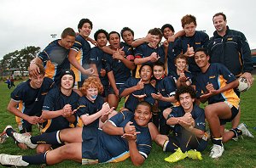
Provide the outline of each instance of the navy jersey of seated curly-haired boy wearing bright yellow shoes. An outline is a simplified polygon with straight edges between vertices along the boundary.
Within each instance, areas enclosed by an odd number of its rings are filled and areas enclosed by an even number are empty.
[[[171,117],[182,117],[185,115],[185,111],[182,106],[173,107],[172,112],[169,116]],[[191,111],[192,118],[195,120],[195,128],[206,131],[206,121],[205,121],[205,111],[204,109],[201,109],[196,104],[194,105],[194,108]],[[183,126],[175,125],[174,126],[174,132],[177,133],[177,135],[181,135]]]

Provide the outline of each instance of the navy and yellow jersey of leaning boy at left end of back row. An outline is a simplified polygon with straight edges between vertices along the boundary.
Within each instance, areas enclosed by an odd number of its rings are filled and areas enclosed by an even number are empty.
[[[44,63],[45,76],[55,81],[56,85],[60,83],[61,70],[69,69],[70,63],[67,59],[69,49],[63,48],[59,40],[50,42],[44,50],[38,54],[38,58]]]

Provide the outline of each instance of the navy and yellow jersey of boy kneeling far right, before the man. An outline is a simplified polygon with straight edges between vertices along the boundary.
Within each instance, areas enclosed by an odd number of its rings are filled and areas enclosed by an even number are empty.
[[[225,87],[228,83],[235,81],[236,76],[234,76],[230,70],[228,70],[223,64],[212,63],[208,67],[205,73],[200,73],[196,76],[195,87],[196,96],[200,96],[207,92],[207,84],[212,83],[215,90]],[[225,102],[230,104],[230,106],[235,106],[236,109],[239,107],[240,98],[237,97],[236,92],[230,89],[225,92],[216,94],[208,98],[208,104],[215,104],[218,102]]]

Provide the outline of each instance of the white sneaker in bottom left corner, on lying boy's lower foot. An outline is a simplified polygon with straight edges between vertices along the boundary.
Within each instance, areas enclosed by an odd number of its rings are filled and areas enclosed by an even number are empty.
[[[27,166],[29,165],[26,161],[22,160],[21,155],[9,155],[0,154],[0,164],[1,165],[15,165],[15,166]]]

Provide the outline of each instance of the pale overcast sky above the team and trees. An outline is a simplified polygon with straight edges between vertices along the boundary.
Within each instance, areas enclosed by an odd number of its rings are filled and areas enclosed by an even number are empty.
[[[92,38],[98,29],[119,32],[125,26],[139,38],[166,23],[179,31],[181,18],[192,14],[196,17],[196,30],[212,36],[215,31],[212,15],[218,12],[226,14],[230,29],[245,34],[253,49],[256,48],[255,7],[254,0],[1,0],[0,59],[27,46],[43,50],[49,42],[60,38],[65,28],[78,31],[77,25],[83,18],[93,22]]]

